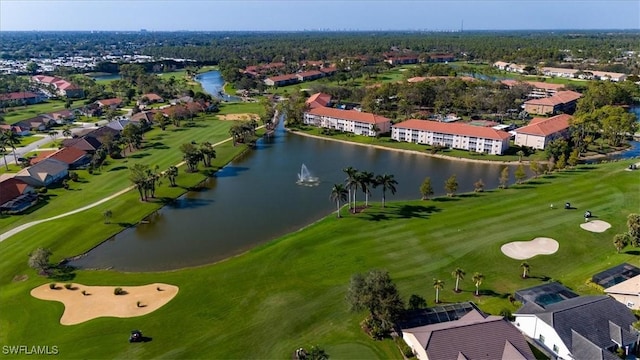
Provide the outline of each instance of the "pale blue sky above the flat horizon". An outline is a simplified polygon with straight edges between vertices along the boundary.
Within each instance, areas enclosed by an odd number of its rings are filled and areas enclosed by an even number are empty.
[[[0,30],[640,29],[640,0],[0,0]]]

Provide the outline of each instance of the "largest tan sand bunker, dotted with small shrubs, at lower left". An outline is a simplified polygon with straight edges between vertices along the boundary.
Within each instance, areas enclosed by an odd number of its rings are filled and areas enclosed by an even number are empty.
[[[177,286],[160,283],[122,286],[122,290],[127,292],[126,295],[114,295],[113,290],[116,286],[72,284],[75,290],[69,290],[64,287],[64,283],[57,285],[57,290],[51,289],[49,284],[38,286],[31,290],[31,296],[63,303],[64,313],[60,318],[62,325],[75,325],[103,316],[125,318],[146,315],[159,309],[178,294]],[[83,290],[87,295],[82,294]]]

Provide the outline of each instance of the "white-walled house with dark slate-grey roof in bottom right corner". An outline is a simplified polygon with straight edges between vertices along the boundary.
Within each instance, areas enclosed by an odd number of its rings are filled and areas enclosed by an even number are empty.
[[[618,348],[634,353],[640,338],[631,310],[609,296],[526,303],[514,316],[520,331],[562,359],[617,359]]]

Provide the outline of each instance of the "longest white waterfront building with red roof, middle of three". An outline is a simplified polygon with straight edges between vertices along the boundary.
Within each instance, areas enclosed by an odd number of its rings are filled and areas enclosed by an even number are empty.
[[[446,146],[492,155],[509,149],[506,131],[463,123],[410,119],[391,127],[391,138],[416,144]]]

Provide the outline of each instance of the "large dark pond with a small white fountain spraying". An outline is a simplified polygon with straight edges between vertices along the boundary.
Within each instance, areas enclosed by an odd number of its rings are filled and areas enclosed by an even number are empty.
[[[316,187],[296,184],[302,164],[317,176]],[[74,266],[123,271],[155,271],[212,263],[257,244],[298,230],[331,213],[331,187],[342,183],[342,169],[353,166],[375,174],[394,174],[399,184],[387,201],[418,199],[430,176],[437,194],[444,181],[458,177],[459,192],[483,179],[498,185],[501,165],[448,161],[422,155],[377,150],[276,132],[255,151],[223,168],[206,184],[160,210],[149,224],[127,229],[72,262]],[[513,172],[513,171],[512,171]],[[178,177],[178,183],[180,178]],[[359,200],[364,200],[360,192]],[[372,201],[381,200],[380,189]]]

